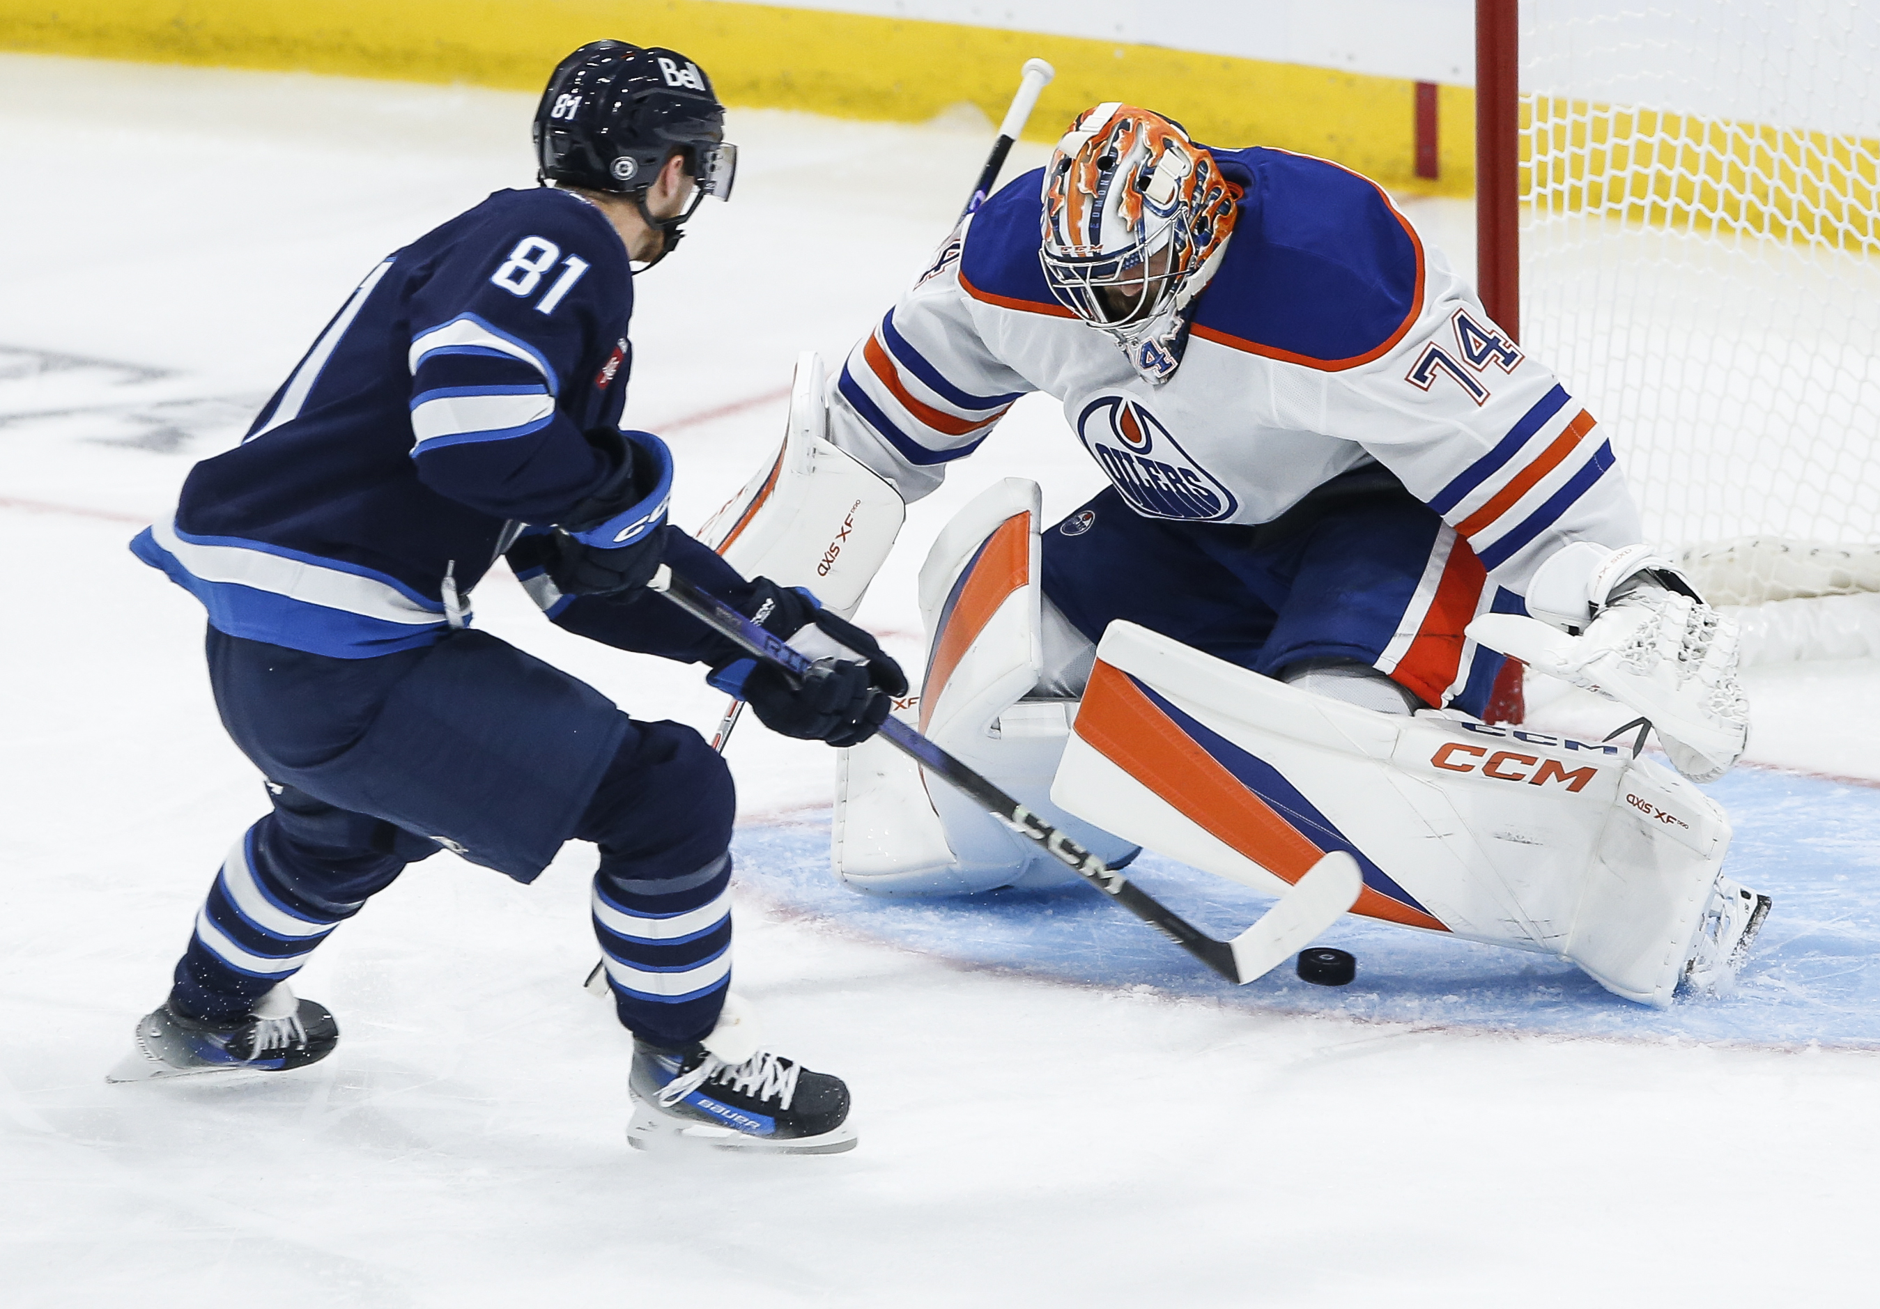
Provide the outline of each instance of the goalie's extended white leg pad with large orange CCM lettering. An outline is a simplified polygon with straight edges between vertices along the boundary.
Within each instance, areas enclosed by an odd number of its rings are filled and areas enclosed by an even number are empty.
[[[1557,954],[1669,1004],[1730,824],[1613,745],[1312,696],[1117,623],[1053,799],[1124,839],[1278,891],[1357,858],[1352,912]]]

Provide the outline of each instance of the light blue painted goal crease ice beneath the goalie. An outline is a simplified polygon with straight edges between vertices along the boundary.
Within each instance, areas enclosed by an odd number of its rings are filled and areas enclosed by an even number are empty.
[[[850,933],[974,967],[1282,1014],[1502,1033],[1690,1038],[1763,1046],[1880,1049],[1880,790],[1739,767],[1707,788],[1739,835],[1724,871],[1775,897],[1756,952],[1728,999],[1632,1004],[1551,955],[1404,931],[1346,916],[1316,944],[1357,955],[1357,980],[1329,989],[1288,967],[1235,987],[1171,950],[1147,923],[1081,882],[1062,890],[908,901],[837,886],[825,867],[825,812],[746,828],[735,852],[752,893]],[[1184,918],[1228,938],[1273,903],[1245,886],[1145,854],[1139,882]]]

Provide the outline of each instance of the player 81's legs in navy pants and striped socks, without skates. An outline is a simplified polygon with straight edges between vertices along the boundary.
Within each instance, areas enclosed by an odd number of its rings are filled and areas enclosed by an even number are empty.
[[[224,861],[171,1004],[231,1019],[333,927],[451,848],[528,882],[568,839],[600,846],[594,931],[620,1021],[681,1046],[731,972],[731,775],[690,728],[635,722],[483,632],[365,660],[211,628],[222,720],[273,812]]]

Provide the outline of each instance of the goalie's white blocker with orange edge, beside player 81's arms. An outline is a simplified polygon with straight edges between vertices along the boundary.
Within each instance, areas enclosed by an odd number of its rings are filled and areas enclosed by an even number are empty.
[[[861,596],[901,532],[901,493],[829,442],[822,359],[797,359],[790,419],[776,457],[744,483],[697,538],[746,577],[808,587],[842,617]]]

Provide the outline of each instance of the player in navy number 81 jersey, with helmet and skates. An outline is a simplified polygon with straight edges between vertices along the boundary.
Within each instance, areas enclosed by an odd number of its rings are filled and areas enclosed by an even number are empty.
[[[635,1042],[630,1140],[854,1143],[844,1083],[724,1014],[724,762],[470,626],[472,589],[508,555],[560,626],[711,664],[788,735],[854,745],[906,688],[805,592],[667,527],[667,449],[619,427],[630,261],[660,263],[705,196],[729,197],[722,124],[675,51],[570,55],[534,120],[545,186],[496,192],[372,269],[243,444],[135,540],[209,609],[216,705],[273,812],[224,861],[117,1080],[323,1059],[337,1023],[288,978],[406,863],[449,848],[528,882],[581,839],[600,844],[594,931]],[[814,639],[816,671],[752,668],[645,598],[660,564]]]

